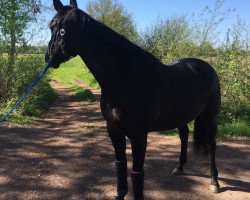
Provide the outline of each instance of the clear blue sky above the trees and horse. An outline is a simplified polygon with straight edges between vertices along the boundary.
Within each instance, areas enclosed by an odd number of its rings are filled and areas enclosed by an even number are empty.
[[[52,0],[42,0],[52,5]],[[90,0],[78,0],[80,9],[86,11],[86,4]],[[213,7],[215,0],[118,0],[126,10],[134,17],[134,21],[139,31],[143,32],[157,19],[165,19],[169,16],[178,14],[199,15],[205,6]],[[69,0],[62,0],[63,4],[69,4]],[[224,9],[236,9],[222,25],[226,30],[236,21],[236,15],[244,20],[250,32],[250,0],[225,0]]]

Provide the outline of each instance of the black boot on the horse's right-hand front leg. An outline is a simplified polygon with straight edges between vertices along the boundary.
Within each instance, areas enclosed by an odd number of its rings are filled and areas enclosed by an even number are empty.
[[[132,187],[134,193],[134,200],[144,200],[144,171],[131,172]]]

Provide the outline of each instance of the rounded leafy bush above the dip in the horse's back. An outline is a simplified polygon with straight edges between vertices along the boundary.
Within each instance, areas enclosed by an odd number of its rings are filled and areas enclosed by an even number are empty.
[[[196,54],[192,34],[187,16],[172,16],[146,31],[141,46],[167,64]]]

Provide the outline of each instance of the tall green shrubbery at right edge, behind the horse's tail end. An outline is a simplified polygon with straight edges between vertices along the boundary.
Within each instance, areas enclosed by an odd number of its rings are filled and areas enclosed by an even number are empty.
[[[221,81],[223,104],[220,118],[225,123],[237,122],[247,115],[249,118],[250,114],[250,55],[245,46],[247,41],[240,37],[244,30],[239,24],[235,28],[236,32],[228,30],[227,42],[219,49],[214,62]]]

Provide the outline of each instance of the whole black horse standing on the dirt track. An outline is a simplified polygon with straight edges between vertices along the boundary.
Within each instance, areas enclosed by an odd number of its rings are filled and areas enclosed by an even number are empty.
[[[181,139],[179,164],[187,161],[188,126],[194,122],[194,147],[210,156],[211,187],[219,190],[215,165],[215,135],[220,108],[220,86],[206,62],[187,58],[164,65],[153,55],[77,8],[76,0],[63,6],[54,0],[57,14],[49,26],[52,38],[46,61],[54,68],[80,55],[101,86],[101,111],[115,150],[117,197],[128,192],[126,136],[131,141],[134,199],[141,200],[144,158],[150,131],[177,128]],[[164,172],[163,172],[164,173]]]

